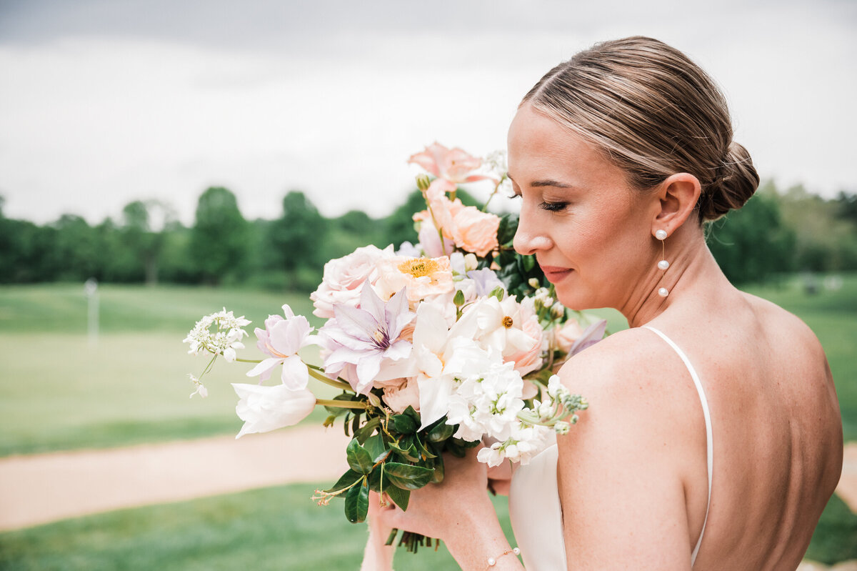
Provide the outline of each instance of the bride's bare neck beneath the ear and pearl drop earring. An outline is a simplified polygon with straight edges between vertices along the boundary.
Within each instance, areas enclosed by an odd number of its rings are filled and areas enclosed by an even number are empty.
[[[697,227],[680,227],[667,238],[664,246],[663,257],[669,261],[666,273],[657,267],[657,261],[662,259],[661,244],[653,243],[650,269],[641,274],[626,302],[616,308],[632,328],[652,321],[681,299],[693,298],[694,292],[718,287],[724,282],[728,284]],[[661,287],[669,291],[666,298],[657,292]]]

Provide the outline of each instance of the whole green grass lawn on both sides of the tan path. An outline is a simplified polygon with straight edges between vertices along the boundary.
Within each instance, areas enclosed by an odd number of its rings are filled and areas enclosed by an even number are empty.
[[[836,292],[807,296],[800,281],[752,288],[793,311],[818,334],[830,360],[845,435],[857,439],[857,275]],[[189,372],[205,361],[186,354],[184,334],[222,306],[261,324],[283,303],[309,316],[301,295],[162,286],[100,290],[101,335],[87,343],[80,285],[0,288],[0,455],[235,434],[235,394],[243,364],[224,364],[206,382],[211,396],[188,399]],[[615,312],[610,328],[624,327]],[[253,342],[249,355],[255,354]],[[318,421],[316,414],[310,421]],[[318,508],[314,486],[296,484],[98,514],[0,534],[2,569],[354,569],[363,526],[345,521],[341,503]],[[502,520],[506,507],[498,502]],[[808,556],[857,557],[857,516],[836,497]],[[457,568],[439,553],[397,556],[397,568]]]

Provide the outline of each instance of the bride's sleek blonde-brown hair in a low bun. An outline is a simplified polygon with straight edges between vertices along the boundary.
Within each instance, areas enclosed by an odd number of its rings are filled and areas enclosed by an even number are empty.
[[[634,36],[580,51],[548,71],[526,103],[591,141],[638,189],[676,172],[697,177],[700,222],[742,207],[758,187],[750,153],[732,140],[720,89],[656,39]]]

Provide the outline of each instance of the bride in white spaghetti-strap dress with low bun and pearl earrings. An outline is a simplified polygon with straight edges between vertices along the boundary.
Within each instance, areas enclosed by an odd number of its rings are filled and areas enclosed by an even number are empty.
[[[758,185],[722,93],[660,41],[604,42],[527,93],[508,153],[515,249],[566,307],[631,326],[563,366],[590,409],[512,477],[525,567],[796,568],[839,480],[842,420],[809,328],[735,289],[705,245],[704,222]],[[476,454],[447,462],[406,512],[375,497],[373,536],[398,527],[443,539],[463,569],[522,568]]]

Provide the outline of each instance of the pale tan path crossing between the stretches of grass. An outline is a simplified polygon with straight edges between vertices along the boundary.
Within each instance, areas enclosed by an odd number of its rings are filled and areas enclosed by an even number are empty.
[[[278,484],[333,484],[348,468],[347,443],[339,427],[307,425],[237,441],[218,436],[6,458],[0,460],[0,531]],[[836,492],[857,512],[857,442],[845,447]]]

